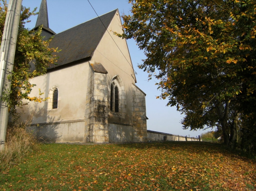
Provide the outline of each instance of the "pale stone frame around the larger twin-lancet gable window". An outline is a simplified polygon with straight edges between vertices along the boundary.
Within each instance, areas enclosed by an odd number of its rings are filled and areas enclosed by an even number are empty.
[[[126,115],[126,93],[124,91],[124,85],[123,85],[123,82],[120,78],[120,76],[117,74],[115,75],[112,80],[111,80],[111,83],[110,83],[110,91],[109,91],[109,110],[110,110],[110,97],[111,97],[111,87],[113,86],[113,88],[115,89],[115,87],[118,88],[118,102],[119,102],[119,109],[118,109],[118,113],[121,114],[122,117],[125,117]],[[115,91],[114,91],[115,92]],[[114,93],[113,92],[113,93]],[[113,110],[114,110],[114,107],[115,107],[115,95],[113,94]],[[115,112],[115,111],[111,111],[110,112]]]

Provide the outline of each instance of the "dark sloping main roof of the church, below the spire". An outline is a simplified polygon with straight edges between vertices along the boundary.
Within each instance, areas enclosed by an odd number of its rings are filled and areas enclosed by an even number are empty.
[[[116,12],[117,9],[55,35],[49,46],[61,51],[56,53],[58,65],[48,69],[92,57]]]

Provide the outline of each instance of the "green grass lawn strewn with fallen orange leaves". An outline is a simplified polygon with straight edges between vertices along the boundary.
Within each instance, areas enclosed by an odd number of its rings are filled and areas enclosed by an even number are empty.
[[[203,142],[46,144],[0,171],[0,190],[256,190],[256,163]]]

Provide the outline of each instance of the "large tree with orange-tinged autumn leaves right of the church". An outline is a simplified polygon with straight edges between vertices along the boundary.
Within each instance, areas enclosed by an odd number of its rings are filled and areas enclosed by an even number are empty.
[[[129,3],[132,15],[123,15],[120,36],[134,38],[144,50],[139,68],[160,79],[160,97],[185,114],[184,128],[220,127],[224,144],[233,145],[245,100],[255,101],[256,2]]]

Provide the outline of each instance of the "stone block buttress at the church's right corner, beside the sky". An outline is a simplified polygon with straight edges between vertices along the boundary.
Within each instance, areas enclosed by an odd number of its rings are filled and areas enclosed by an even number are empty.
[[[133,141],[147,141],[146,94],[135,84],[132,86]]]

